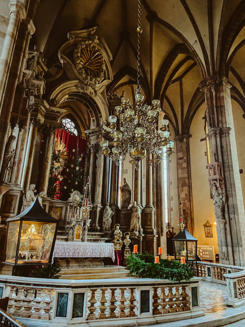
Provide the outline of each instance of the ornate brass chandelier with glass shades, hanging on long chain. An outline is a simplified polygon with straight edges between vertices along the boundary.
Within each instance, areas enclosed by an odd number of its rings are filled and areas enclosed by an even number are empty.
[[[139,162],[147,155],[147,160],[151,166],[155,167],[163,159],[167,159],[174,153],[174,143],[169,141],[169,128],[167,119],[161,112],[160,101],[153,100],[152,105],[144,104],[144,95],[140,92],[140,33],[141,28],[141,2],[139,0],[138,9],[138,72],[135,102],[129,103],[127,97],[122,97],[122,104],[115,107],[115,115],[109,116],[110,137],[113,138],[113,148],[109,149],[108,141],[100,142],[101,151],[114,161],[116,165],[124,162],[126,154],[129,153],[136,170]],[[166,150],[164,150],[166,147]]]

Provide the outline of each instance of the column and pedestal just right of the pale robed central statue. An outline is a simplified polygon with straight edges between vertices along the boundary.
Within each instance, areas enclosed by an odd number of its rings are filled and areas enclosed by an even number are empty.
[[[152,166],[146,160],[146,205],[142,211],[142,227],[145,234],[146,251],[156,254],[155,208],[153,207]]]

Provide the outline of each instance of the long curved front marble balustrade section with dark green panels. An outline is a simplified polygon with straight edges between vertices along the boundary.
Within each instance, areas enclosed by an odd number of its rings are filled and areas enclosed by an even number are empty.
[[[171,283],[156,279],[49,280],[0,275],[7,313],[26,326],[144,325],[201,317],[199,282]],[[157,316],[157,317],[156,317]],[[176,317],[177,316],[177,317]],[[103,323],[102,323],[103,324]]]

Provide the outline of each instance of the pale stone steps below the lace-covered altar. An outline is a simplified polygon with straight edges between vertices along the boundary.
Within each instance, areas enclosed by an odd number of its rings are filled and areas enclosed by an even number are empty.
[[[129,270],[122,266],[63,268],[58,274],[60,279],[105,279],[128,278]]]

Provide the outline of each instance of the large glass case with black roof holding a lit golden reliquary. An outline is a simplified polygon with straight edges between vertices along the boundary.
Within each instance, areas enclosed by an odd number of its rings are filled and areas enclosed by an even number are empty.
[[[8,218],[7,223],[6,264],[51,264],[58,220],[46,213],[38,198],[20,215]]]

